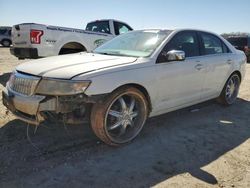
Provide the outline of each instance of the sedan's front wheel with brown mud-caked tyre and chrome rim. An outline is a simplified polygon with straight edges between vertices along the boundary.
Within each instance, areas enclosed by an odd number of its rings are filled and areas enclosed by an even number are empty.
[[[125,87],[93,106],[91,126],[105,143],[120,145],[140,133],[147,116],[148,102],[143,93],[136,88]]]

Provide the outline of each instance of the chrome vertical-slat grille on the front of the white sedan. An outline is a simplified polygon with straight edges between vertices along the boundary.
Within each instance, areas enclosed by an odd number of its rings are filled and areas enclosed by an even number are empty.
[[[23,95],[32,95],[34,94],[39,80],[39,77],[15,72],[10,77],[9,86],[17,93],[21,93]]]

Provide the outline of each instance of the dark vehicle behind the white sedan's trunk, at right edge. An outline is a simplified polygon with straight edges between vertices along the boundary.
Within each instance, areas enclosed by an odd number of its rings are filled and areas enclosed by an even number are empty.
[[[229,36],[226,38],[236,49],[243,51],[250,62],[250,36]]]

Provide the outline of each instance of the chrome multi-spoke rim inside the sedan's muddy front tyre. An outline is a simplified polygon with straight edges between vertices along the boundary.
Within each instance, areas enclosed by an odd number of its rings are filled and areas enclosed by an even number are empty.
[[[106,133],[116,143],[128,142],[141,131],[146,117],[145,104],[139,96],[132,93],[121,94],[106,111]]]

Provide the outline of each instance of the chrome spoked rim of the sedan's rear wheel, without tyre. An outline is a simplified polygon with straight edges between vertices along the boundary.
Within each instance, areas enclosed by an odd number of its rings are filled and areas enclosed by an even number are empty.
[[[238,75],[233,75],[227,82],[226,85],[226,101],[228,104],[232,104],[239,93],[239,87],[240,87],[240,78]]]

